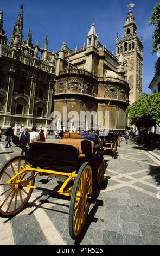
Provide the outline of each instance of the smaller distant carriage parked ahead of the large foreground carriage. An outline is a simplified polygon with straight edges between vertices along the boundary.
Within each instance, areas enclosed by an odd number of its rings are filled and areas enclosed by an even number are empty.
[[[114,159],[116,159],[116,151],[117,147],[120,147],[120,137],[116,132],[109,131],[109,132],[101,132],[99,134],[101,139],[104,152],[111,152]]]

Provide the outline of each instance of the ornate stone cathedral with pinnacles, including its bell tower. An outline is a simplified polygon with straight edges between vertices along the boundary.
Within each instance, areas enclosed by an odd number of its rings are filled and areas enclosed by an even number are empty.
[[[23,5],[8,42],[0,10],[0,125],[49,129],[53,111],[59,111],[63,120],[63,107],[78,115],[81,111],[104,115],[108,107],[110,129],[126,130],[125,110],[142,91],[143,69],[143,43],[131,8],[124,32],[123,39],[116,40],[116,56],[100,44],[94,23],[86,45],[73,51],[63,41],[60,51],[50,52],[48,35],[43,49],[38,41],[33,45],[31,28],[27,40],[22,40]]]

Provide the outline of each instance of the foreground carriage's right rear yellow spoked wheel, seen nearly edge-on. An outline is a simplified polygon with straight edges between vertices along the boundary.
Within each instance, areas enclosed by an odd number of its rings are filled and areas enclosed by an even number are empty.
[[[89,163],[82,164],[75,178],[69,207],[69,234],[76,239],[84,228],[92,196],[92,169]]]

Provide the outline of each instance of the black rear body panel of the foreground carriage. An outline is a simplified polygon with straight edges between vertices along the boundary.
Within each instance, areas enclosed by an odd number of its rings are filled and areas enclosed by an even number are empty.
[[[29,145],[33,167],[61,172],[74,172],[80,168],[78,150],[71,145],[33,142]]]

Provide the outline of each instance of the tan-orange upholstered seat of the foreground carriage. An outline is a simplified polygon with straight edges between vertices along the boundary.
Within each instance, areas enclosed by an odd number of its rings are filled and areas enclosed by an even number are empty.
[[[60,144],[67,144],[67,145],[72,145],[76,148],[79,149],[79,156],[80,157],[85,157],[85,154],[82,152],[82,149],[81,149],[81,141],[84,141],[84,139],[74,139],[74,138],[63,138],[63,139],[60,139],[59,143]],[[94,149],[94,142],[93,141],[90,141],[92,143],[92,151]]]

